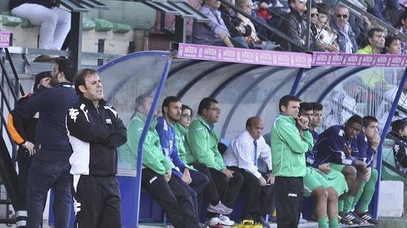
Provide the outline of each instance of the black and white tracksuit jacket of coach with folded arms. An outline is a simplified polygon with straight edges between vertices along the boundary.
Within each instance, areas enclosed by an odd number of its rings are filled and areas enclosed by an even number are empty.
[[[67,114],[71,174],[113,176],[117,174],[117,150],[127,140],[126,127],[113,107],[99,107],[81,96]]]

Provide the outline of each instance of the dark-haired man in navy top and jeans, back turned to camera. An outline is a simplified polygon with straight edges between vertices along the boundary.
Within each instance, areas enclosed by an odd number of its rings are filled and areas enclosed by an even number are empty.
[[[72,82],[72,61],[62,59],[52,71],[53,88],[41,92],[26,104],[26,112],[40,112],[35,131],[35,155],[28,175],[27,227],[41,224],[47,192],[54,191],[55,227],[67,228],[71,210],[69,157],[72,149],[67,136],[65,115],[78,102]]]

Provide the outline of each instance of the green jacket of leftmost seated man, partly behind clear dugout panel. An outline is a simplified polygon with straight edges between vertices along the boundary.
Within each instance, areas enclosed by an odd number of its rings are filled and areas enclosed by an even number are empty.
[[[130,166],[135,169],[137,164],[137,151],[139,148],[139,139],[142,135],[146,116],[137,113],[129,126],[127,126],[127,143],[122,145],[119,152],[119,164]],[[167,169],[171,169],[171,163],[163,154],[161,149],[159,134],[156,132],[156,119],[151,121],[146,140],[143,143],[143,169],[150,168],[154,172],[164,175]],[[123,168],[123,167],[120,167]]]

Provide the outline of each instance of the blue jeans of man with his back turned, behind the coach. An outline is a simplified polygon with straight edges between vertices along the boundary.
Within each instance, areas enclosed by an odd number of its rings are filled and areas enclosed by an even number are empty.
[[[71,176],[69,169],[69,161],[48,162],[39,160],[37,157],[33,158],[30,174],[28,174],[27,228],[40,227],[44,202],[50,188],[55,195],[53,205],[55,228],[69,227],[71,215]]]

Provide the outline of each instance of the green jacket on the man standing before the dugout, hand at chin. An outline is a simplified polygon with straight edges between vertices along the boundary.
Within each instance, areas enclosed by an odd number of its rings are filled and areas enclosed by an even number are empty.
[[[305,176],[305,152],[312,150],[313,144],[311,132],[304,131],[302,140],[294,118],[280,114],[271,128],[273,175]]]

